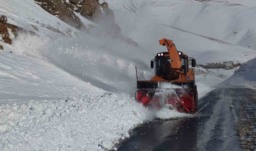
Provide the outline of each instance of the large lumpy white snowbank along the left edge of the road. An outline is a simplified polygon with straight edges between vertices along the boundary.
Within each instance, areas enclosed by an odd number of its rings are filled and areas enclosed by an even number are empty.
[[[1,106],[0,150],[111,149],[146,112],[125,94],[111,92]]]

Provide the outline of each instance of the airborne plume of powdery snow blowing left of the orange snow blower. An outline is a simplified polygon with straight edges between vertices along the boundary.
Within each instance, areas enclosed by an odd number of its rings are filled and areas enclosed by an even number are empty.
[[[150,79],[151,57],[145,50],[87,34],[58,37],[41,48],[41,55],[83,81],[108,91],[136,91],[135,66]],[[141,55],[143,54],[143,55]]]

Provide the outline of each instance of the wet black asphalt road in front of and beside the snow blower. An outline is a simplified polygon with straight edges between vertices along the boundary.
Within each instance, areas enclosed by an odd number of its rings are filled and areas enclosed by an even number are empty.
[[[121,142],[118,150],[244,150],[236,122],[244,100],[255,105],[253,98],[256,91],[247,88],[215,89],[199,100],[199,111],[195,115],[143,124]],[[255,109],[251,112],[255,114]]]

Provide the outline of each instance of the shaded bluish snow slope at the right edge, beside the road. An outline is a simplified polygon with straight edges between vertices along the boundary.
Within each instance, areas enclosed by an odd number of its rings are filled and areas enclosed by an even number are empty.
[[[246,81],[249,81],[249,86],[256,85],[256,58],[244,63],[230,78],[221,83],[221,85],[247,85]]]

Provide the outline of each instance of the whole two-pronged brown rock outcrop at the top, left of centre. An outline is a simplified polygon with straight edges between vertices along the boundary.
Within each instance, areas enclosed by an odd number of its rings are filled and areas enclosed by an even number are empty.
[[[102,15],[99,0],[34,0],[45,11],[60,18],[78,30],[87,28],[74,11],[85,18],[96,21]]]

